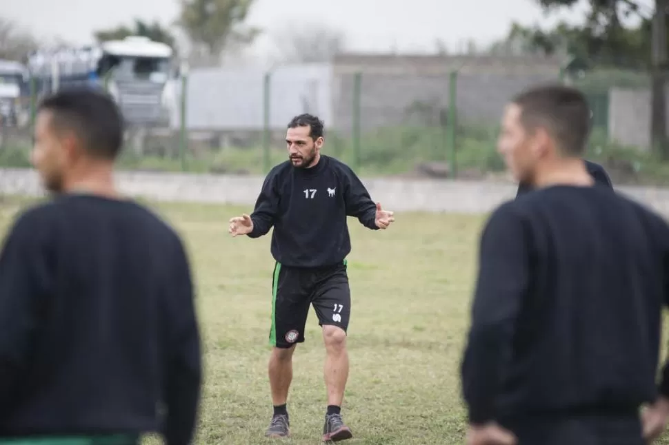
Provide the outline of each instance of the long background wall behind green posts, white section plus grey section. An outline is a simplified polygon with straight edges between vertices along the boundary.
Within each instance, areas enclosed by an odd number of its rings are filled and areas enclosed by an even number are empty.
[[[559,61],[536,57],[379,56],[341,54],[326,64],[286,65],[272,70],[270,125],[283,129],[295,114],[319,114],[330,129],[350,132],[355,73],[363,75],[361,126],[406,125],[415,105],[439,109],[449,103],[449,74],[457,70],[459,119],[497,123],[510,96],[530,85],[557,81]],[[193,70],[188,79],[186,122],[190,130],[263,128],[263,76],[254,68]],[[172,96],[177,101],[179,85]],[[179,126],[179,107],[171,110]],[[416,118],[416,116],[413,116]],[[424,116],[416,122],[426,125]]]

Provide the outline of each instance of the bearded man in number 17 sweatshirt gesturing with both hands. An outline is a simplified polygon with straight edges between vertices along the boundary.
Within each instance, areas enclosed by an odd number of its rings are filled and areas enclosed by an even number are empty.
[[[352,437],[341,418],[341,402],[348,378],[346,329],[350,290],[346,256],[351,250],[347,216],[366,227],[386,229],[392,211],[374,203],[352,170],[335,158],[321,155],[323,122],[301,114],[288,124],[288,161],[265,178],[251,216],[230,220],[232,236],[258,238],[272,233],[276,260],[272,285],[272,326],[269,363],[274,415],[268,437],[289,435],[286,400],[292,380],[292,354],[304,341],[309,305],[323,327],[326,346],[325,380],[328,410],[324,441]]]

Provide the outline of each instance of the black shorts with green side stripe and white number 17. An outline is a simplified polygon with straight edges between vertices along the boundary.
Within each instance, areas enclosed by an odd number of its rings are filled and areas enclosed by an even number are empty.
[[[277,262],[272,277],[271,346],[285,349],[304,341],[309,304],[313,304],[320,326],[331,324],[346,332],[351,314],[346,260],[313,269]]]

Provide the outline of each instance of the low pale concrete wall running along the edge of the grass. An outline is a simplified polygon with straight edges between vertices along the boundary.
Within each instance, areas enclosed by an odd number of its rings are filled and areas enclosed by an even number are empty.
[[[254,204],[263,178],[260,176],[213,176],[121,172],[117,176],[124,193],[161,201],[185,201],[243,205]],[[476,181],[399,180],[363,178],[372,198],[394,211],[483,213],[515,196],[510,183]],[[620,187],[632,196],[669,216],[669,189]],[[37,174],[32,170],[0,169],[0,193],[41,196]]]

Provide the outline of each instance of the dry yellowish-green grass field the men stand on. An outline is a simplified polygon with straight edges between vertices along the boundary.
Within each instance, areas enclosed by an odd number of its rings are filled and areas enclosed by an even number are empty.
[[[17,203],[0,204],[0,225]],[[269,444],[266,364],[273,262],[269,237],[232,239],[230,216],[248,209],[161,205],[188,243],[206,352],[198,444]],[[459,360],[483,217],[400,214],[388,231],[350,221],[351,373],[343,406],[366,445],[461,444]],[[289,397],[293,437],[319,444],[326,393],[324,351],[310,313]],[[159,443],[149,438],[147,444]],[[665,442],[663,442],[665,443]],[[669,442],[666,442],[669,443]]]

